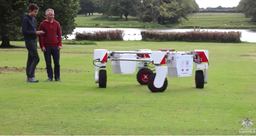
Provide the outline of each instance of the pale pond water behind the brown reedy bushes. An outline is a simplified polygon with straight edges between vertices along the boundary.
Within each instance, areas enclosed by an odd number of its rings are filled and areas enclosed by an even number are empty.
[[[77,27],[74,29],[74,32],[72,35],[69,35],[68,39],[74,39],[75,35],[74,33],[76,32],[83,32],[83,31],[106,31],[106,30],[124,30],[124,37],[123,40],[141,40],[142,37],[140,35],[140,32],[143,30],[147,29],[142,29],[142,28],[81,28]],[[157,29],[155,31],[162,31],[162,32],[186,32],[186,31],[191,31],[193,29]],[[228,31],[240,31],[242,32],[242,41],[246,42],[251,42],[255,43],[256,42],[256,31],[255,30],[235,30],[235,29],[201,29],[202,30],[208,30],[208,31],[219,31],[219,32],[228,32]]]

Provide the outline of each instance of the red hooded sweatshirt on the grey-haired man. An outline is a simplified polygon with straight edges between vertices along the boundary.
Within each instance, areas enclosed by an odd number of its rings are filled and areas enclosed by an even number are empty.
[[[58,21],[48,22],[44,20],[39,25],[39,31],[44,31],[39,36],[39,45],[41,48],[45,46],[62,46],[61,28]]]

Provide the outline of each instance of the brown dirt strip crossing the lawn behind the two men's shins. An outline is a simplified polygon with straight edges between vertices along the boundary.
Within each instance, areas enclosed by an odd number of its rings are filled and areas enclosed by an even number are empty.
[[[54,69],[54,68],[53,68]],[[25,72],[25,67],[0,67],[0,74],[4,74],[3,72]],[[46,72],[46,68],[36,68],[36,72]],[[80,73],[80,72],[89,72],[83,70],[68,70],[68,69],[60,69],[61,73]]]

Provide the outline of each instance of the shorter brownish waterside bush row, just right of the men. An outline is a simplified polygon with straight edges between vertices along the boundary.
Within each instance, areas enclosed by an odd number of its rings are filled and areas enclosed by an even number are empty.
[[[124,30],[107,30],[75,33],[76,40],[100,41],[100,40],[123,40]]]

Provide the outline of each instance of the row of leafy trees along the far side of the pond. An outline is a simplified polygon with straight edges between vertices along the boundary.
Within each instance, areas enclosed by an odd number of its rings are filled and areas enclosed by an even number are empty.
[[[199,5],[195,0],[80,0],[79,14],[102,13],[107,16],[118,16],[127,20],[134,16],[141,22],[159,24],[175,23],[188,14],[198,12]]]

